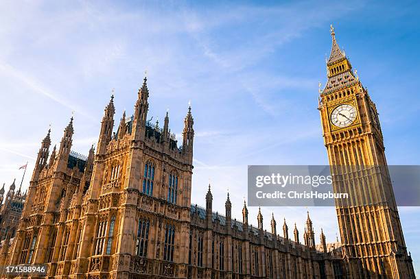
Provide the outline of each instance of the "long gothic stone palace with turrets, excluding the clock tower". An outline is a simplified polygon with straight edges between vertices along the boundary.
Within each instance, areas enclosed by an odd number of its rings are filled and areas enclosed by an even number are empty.
[[[178,147],[168,115],[163,128],[146,120],[148,97],[145,79],[135,113],[124,112],[115,133],[111,97],[96,153],[92,148],[87,158],[71,151],[73,119],[50,156],[47,134],[14,241],[7,239],[1,248],[2,263],[47,263],[47,278],[359,278],[343,223],[345,254],[338,241],[327,244],[323,232],[315,244],[309,214],[301,243],[296,226],[291,240],[285,221],[279,236],[274,216],[271,232],[263,229],[261,212],[257,227],[250,225],[246,205],[242,221],[232,219],[229,195],[225,215],[213,213],[210,186],[205,208],[191,205],[191,109]],[[322,98],[324,115],[329,100]],[[348,210],[337,210],[340,222]],[[390,242],[400,247],[403,262],[410,260],[404,242]],[[369,258],[372,250],[363,253]]]

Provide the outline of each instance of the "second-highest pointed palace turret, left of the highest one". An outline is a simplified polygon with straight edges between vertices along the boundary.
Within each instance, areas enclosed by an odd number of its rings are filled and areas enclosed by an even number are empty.
[[[111,140],[114,128],[114,95],[111,95],[108,106],[105,107],[104,117],[102,117],[101,132],[97,141],[97,154],[106,154],[106,147]]]

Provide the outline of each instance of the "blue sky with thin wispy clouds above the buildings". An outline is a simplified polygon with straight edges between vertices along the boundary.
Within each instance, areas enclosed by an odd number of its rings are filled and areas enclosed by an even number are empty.
[[[198,4],[199,3],[199,4]],[[132,113],[148,71],[149,115],[178,136],[191,100],[196,140],[192,202],[242,218],[246,165],[327,164],[317,106],[336,38],[377,104],[390,165],[420,165],[420,6],[415,1],[1,1],[0,178],[6,188],[34,158],[51,123],[58,143],[75,110],[73,150],[97,142],[111,88],[116,119]],[[303,230],[306,208],[274,211]],[[336,237],[334,208],[310,208],[318,239]],[[420,270],[419,208],[400,208]],[[256,221],[257,208],[250,208]]]

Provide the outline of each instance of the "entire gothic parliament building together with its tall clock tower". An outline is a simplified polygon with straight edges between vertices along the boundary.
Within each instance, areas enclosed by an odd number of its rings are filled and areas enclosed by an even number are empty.
[[[329,163],[384,165],[375,104],[332,27],[331,36],[318,103]],[[274,215],[268,232],[261,211],[251,224],[246,204],[242,219],[233,218],[229,194],[225,214],[215,213],[210,185],[204,207],[191,203],[191,108],[178,143],[168,113],[162,128],[147,120],[149,95],[144,78],[134,114],[117,123],[111,96],[88,156],[71,150],[73,117],[51,153],[48,131],[16,233],[1,242],[0,266],[46,264],[43,278],[74,279],[415,278],[388,173],[375,172],[378,183],[369,185],[385,199],[337,203],[341,242],[327,243],[322,230],[316,237],[309,213],[301,236],[296,224],[277,226]],[[334,188],[364,183],[358,175],[341,175]],[[0,278],[10,276],[0,271]]]

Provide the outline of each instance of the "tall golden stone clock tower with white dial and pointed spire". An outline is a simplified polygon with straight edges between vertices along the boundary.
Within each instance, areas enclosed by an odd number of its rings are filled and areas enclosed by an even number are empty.
[[[375,104],[336,41],[320,90],[323,137],[336,200],[347,278],[415,278],[393,193]]]

